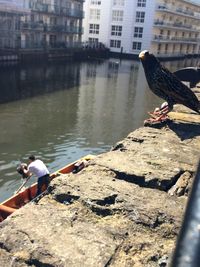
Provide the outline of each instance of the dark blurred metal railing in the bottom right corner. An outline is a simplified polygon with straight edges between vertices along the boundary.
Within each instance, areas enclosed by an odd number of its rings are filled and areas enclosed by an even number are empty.
[[[200,266],[200,163],[170,267]]]

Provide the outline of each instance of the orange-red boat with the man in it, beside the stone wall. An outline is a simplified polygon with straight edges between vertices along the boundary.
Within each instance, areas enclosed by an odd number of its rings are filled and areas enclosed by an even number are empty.
[[[78,172],[85,167],[87,161],[92,159],[92,155],[85,156],[78,161],[70,163],[58,171],[52,173],[50,175],[50,179],[54,179],[55,177],[61,174],[67,174],[70,172]],[[42,188],[42,191],[45,192],[47,188],[45,186]],[[12,197],[8,198],[4,202],[0,204],[0,222],[5,220],[10,214],[15,212],[17,209],[23,207],[28,202],[35,198],[37,192],[37,183],[34,183],[30,187],[24,189],[23,191],[14,194]]]

